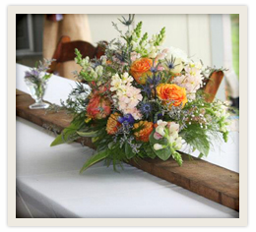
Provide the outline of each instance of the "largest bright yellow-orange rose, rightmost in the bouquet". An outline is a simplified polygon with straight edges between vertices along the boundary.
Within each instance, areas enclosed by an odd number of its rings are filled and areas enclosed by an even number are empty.
[[[178,87],[175,84],[160,84],[157,87],[157,93],[164,103],[174,101],[171,105],[179,106],[182,103],[182,107],[187,103],[186,89],[184,87]]]

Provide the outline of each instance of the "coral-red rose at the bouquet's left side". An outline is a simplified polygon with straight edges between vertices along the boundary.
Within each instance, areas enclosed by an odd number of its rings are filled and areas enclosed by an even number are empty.
[[[87,116],[92,119],[102,119],[107,117],[110,112],[110,101],[98,94],[94,95],[87,106]]]

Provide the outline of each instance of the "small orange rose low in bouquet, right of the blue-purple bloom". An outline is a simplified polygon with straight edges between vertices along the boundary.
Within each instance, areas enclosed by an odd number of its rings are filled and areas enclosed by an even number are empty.
[[[149,137],[154,129],[154,123],[148,121],[140,121],[134,124],[134,129],[141,128],[140,131],[135,132],[135,138],[137,141],[149,142]]]

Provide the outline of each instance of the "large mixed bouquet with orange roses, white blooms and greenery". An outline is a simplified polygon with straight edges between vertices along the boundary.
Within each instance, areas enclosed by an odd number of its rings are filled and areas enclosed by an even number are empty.
[[[62,102],[74,119],[52,145],[92,138],[96,154],[83,172],[102,159],[114,169],[122,161],[156,157],[172,157],[181,166],[177,150],[182,145],[202,157],[213,137],[222,135],[226,142],[227,106],[220,100],[207,102],[202,90],[216,70],[180,49],[162,48],[164,28],[149,39],[147,32],[142,34],[142,22],[129,29],[133,16],[120,21],[127,31],[113,23],[120,37],[105,45],[100,59],[82,58],[76,49],[82,70],[75,75],[82,82]]]

